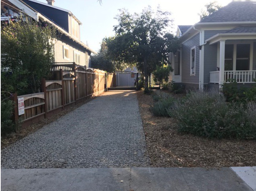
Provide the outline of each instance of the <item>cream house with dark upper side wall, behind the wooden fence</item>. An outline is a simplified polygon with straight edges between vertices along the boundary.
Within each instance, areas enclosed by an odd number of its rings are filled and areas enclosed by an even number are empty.
[[[48,4],[35,0],[3,0],[1,8],[5,5],[13,12],[25,14],[34,20],[44,21],[56,27],[62,35],[54,42],[55,62],[75,62],[90,67],[90,55],[96,52],[80,41],[82,23],[72,12],[53,6],[54,0],[46,1]],[[4,19],[8,20],[8,17],[1,15],[1,20]]]

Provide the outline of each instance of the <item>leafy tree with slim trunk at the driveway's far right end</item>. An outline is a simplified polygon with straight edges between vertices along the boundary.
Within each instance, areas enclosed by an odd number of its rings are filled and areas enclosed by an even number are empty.
[[[125,9],[116,16],[115,36],[108,41],[108,53],[113,60],[135,64],[145,77],[145,91],[148,91],[148,75],[162,60],[167,62],[167,54],[176,52],[178,39],[167,32],[172,20],[170,12],[151,7],[141,14],[129,14]]]

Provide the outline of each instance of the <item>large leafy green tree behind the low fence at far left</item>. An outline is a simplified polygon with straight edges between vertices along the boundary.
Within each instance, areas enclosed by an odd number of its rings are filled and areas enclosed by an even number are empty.
[[[50,75],[56,30],[44,22],[20,20],[1,29],[1,91],[39,92]]]

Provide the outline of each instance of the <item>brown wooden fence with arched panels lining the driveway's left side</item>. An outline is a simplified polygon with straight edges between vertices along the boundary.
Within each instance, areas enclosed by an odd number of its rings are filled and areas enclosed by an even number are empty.
[[[105,72],[72,64],[55,64],[52,80],[42,79],[41,93],[17,96],[14,120],[18,121],[18,98],[24,98],[25,114],[20,115],[22,128],[60,112],[83,99],[101,94],[105,90]]]

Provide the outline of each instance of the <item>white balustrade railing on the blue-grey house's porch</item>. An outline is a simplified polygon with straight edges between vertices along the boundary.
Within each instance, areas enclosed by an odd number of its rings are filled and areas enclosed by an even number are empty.
[[[256,70],[228,70],[224,71],[224,82],[235,79],[238,84],[255,83]],[[210,72],[210,83],[219,83],[219,71]]]

